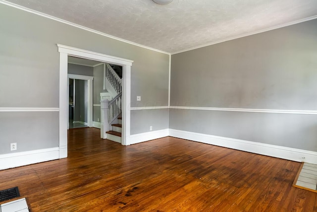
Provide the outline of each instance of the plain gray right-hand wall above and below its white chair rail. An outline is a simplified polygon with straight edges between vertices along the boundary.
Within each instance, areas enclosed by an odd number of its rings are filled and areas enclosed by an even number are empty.
[[[317,110],[317,20],[171,57],[171,106]],[[317,116],[170,110],[169,127],[317,151]]]

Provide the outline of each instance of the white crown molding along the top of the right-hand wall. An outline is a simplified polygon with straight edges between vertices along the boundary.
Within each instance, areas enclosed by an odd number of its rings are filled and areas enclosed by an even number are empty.
[[[188,51],[191,51],[191,50],[194,50],[194,49],[199,49],[199,48],[203,48],[203,47],[206,47],[206,46],[211,46],[211,45],[214,45],[214,44],[217,44],[217,43],[223,43],[223,42],[226,42],[226,41],[230,41],[230,40],[234,40],[234,39],[238,39],[238,38],[243,38],[243,37],[247,37],[247,36],[250,36],[250,35],[255,35],[255,34],[267,32],[267,31],[271,31],[271,30],[274,30],[274,29],[279,29],[279,28],[282,28],[282,27],[291,26],[291,25],[294,25],[294,24],[298,24],[298,23],[302,23],[302,22],[305,22],[305,21],[313,20],[313,19],[316,19],[316,18],[317,18],[317,15],[314,15],[314,16],[303,18],[303,19],[300,19],[300,20],[291,21],[291,22],[280,24],[280,25],[277,25],[277,26],[272,26],[272,27],[268,27],[268,28],[265,28],[265,29],[257,30],[255,32],[249,32],[249,33],[245,33],[245,34],[242,34],[242,35],[237,35],[237,36],[233,36],[233,37],[230,37],[230,38],[226,38],[226,39],[223,39],[223,40],[214,41],[214,42],[211,42],[211,43],[208,43],[208,44],[203,44],[203,45],[200,45],[200,46],[196,46],[196,47],[180,50],[180,51],[177,51],[177,52],[172,52],[170,54],[171,55],[175,55],[175,54],[182,53],[182,52],[188,52]]]

